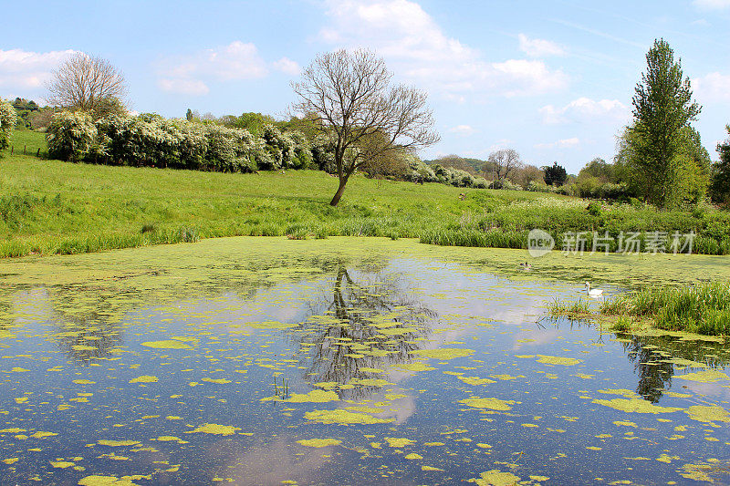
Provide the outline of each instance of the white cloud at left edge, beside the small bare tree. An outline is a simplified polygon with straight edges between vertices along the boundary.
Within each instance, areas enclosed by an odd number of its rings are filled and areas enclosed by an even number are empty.
[[[51,71],[73,50],[32,52],[22,49],[0,49],[0,88],[15,91],[18,96],[37,91],[51,77]]]

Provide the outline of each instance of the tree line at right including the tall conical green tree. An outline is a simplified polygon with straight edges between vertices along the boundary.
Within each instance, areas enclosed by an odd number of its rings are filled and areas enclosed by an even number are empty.
[[[702,107],[692,98],[680,59],[663,39],[646,55],[646,70],[632,98],[631,123],[617,140],[613,163],[591,160],[577,176],[563,167],[522,163],[515,150],[492,152],[487,160],[456,155],[429,161],[474,175],[505,179],[530,191],[558,191],[597,199],[632,198],[661,208],[694,206],[708,199],[730,203],[730,139],[718,144],[713,163],[692,121]],[[730,135],[730,125],[726,127]],[[543,184],[544,182],[544,184]]]

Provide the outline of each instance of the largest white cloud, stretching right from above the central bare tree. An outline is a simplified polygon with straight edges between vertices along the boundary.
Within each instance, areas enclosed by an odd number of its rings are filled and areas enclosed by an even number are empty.
[[[447,36],[409,0],[328,0],[330,23],[319,40],[333,47],[369,47],[408,81],[460,101],[465,93],[527,96],[566,88],[568,76],[541,61],[490,61]]]

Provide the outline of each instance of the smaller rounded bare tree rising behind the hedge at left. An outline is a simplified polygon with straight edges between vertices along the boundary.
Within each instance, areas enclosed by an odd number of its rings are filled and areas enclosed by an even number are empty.
[[[124,109],[127,93],[124,76],[116,67],[106,59],[82,52],[72,54],[53,71],[47,89],[51,105],[96,116]]]

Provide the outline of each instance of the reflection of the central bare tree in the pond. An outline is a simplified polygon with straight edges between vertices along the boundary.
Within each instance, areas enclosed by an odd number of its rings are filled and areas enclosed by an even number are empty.
[[[304,378],[339,384],[342,399],[370,397],[381,388],[357,381],[382,377],[373,369],[410,363],[436,316],[397,275],[339,264],[331,288],[308,304],[308,318],[293,330]]]

